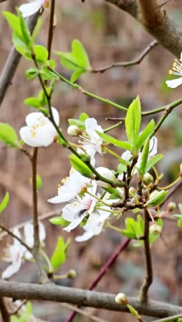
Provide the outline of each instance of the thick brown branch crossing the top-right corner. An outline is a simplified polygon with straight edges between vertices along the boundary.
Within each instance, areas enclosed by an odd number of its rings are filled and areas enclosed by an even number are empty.
[[[139,21],[163,47],[175,56],[182,48],[182,28],[154,0],[105,0],[128,12]],[[138,3],[138,4],[137,4]],[[149,11],[149,8],[151,11]],[[139,13],[141,10],[141,14]],[[153,11],[154,10],[154,11]]]

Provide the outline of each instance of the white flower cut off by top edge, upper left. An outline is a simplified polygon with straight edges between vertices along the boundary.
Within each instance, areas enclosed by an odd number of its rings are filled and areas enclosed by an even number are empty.
[[[30,3],[23,3],[23,5],[19,7],[19,10],[22,12],[23,17],[26,18],[38,12],[41,7],[45,8],[48,7],[48,5],[48,0],[33,0]]]

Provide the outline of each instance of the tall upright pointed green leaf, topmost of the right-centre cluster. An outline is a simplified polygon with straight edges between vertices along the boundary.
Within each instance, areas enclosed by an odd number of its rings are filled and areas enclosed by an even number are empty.
[[[136,144],[136,140],[139,136],[139,130],[141,126],[141,103],[139,96],[128,107],[128,112],[125,118],[125,129],[128,140],[133,147]]]

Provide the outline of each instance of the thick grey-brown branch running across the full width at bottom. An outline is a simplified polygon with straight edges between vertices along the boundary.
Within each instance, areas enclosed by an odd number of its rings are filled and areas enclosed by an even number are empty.
[[[67,288],[64,286],[55,286],[54,284],[38,285],[6,282],[2,280],[0,280],[0,290],[2,297],[11,297],[13,299],[53,301],[91,308],[101,308],[104,310],[129,312],[125,305],[115,302],[115,294],[81,290],[79,288]],[[174,314],[182,314],[181,307],[168,303],[150,300],[148,304],[143,305],[138,299],[133,297],[128,297],[128,301],[139,314],[161,318]]]

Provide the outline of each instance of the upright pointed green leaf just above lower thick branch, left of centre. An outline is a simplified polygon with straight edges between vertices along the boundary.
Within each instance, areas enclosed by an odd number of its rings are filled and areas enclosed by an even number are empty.
[[[53,270],[57,270],[61,264],[65,262],[65,244],[63,237],[59,237],[57,241],[57,246],[54,253],[50,259]]]

